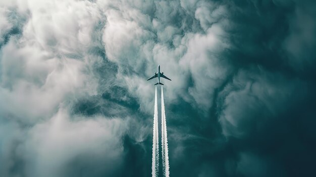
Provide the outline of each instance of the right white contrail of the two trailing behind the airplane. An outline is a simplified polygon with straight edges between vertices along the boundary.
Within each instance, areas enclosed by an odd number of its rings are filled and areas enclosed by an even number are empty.
[[[162,158],[163,158],[163,171],[165,173],[165,176],[169,177],[168,138],[167,138],[167,124],[166,124],[163,87],[162,87]]]

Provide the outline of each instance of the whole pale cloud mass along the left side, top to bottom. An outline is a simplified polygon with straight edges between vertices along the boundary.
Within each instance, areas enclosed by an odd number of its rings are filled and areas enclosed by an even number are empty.
[[[95,4],[83,1],[6,6],[0,56],[0,149],[5,165],[0,174],[114,175],[123,155],[126,116],[72,112],[77,99],[100,94],[91,68],[101,60],[102,14]],[[20,31],[12,32],[15,28]]]

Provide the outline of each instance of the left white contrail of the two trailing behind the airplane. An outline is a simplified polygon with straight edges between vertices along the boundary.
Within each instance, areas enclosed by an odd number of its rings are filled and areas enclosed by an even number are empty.
[[[158,176],[159,171],[159,134],[158,134],[158,106],[157,106],[157,87],[154,97],[154,114],[153,114],[153,129],[152,129],[152,177]]]

